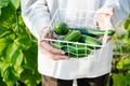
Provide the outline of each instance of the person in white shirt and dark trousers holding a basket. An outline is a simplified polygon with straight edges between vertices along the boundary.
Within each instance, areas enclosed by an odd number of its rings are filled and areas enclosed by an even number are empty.
[[[108,19],[114,30],[127,18],[129,4],[130,0],[22,0],[23,19],[38,40],[38,71],[43,76],[42,86],[73,86],[74,80],[77,80],[78,86],[105,86],[112,69],[110,40],[96,60],[89,57],[79,60],[69,58],[64,51],[52,47],[41,39],[48,38],[51,32],[47,27],[57,9],[95,11],[99,26],[104,28],[104,22]]]

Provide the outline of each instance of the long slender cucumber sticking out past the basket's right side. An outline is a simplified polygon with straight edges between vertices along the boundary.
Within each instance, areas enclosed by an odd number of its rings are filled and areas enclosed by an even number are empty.
[[[103,37],[105,30],[92,29],[92,28],[69,28],[72,30],[79,30],[82,34],[87,34],[90,37]],[[114,35],[115,30],[108,30],[108,35]]]

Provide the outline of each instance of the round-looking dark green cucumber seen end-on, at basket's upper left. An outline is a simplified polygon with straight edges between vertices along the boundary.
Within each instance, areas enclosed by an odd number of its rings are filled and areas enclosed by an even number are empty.
[[[54,25],[54,32],[56,34],[64,35],[64,34],[67,34],[68,31],[69,31],[69,28],[65,23],[57,23]]]

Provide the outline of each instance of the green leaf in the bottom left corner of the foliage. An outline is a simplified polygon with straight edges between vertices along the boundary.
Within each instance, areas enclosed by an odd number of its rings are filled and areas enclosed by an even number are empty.
[[[14,69],[13,64],[11,64],[3,57],[0,58],[0,72],[2,81],[8,86],[13,86],[16,83],[16,81],[18,81],[20,77],[18,70]]]

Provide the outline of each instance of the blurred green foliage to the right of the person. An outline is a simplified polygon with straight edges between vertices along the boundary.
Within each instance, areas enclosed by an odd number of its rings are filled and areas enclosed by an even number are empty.
[[[107,86],[130,86],[130,16],[116,30],[113,69]]]

